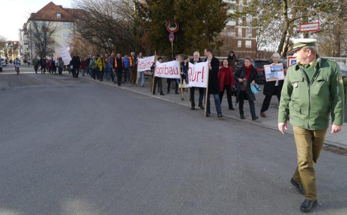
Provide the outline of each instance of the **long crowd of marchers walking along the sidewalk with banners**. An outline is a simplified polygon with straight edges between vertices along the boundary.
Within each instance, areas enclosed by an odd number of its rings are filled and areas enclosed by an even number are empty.
[[[140,52],[137,56],[134,52],[130,53],[130,56],[121,56],[120,53],[112,52],[109,54],[98,54],[96,56],[88,55],[85,58],[80,58],[78,53],[73,53],[72,59],[69,64],[65,65],[61,57],[49,56],[47,58],[37,58],[36,56],[32,60],[35,73],[49,73],[54,75],[62,75],[62,71],[67,71],[72,74],[74,78],[78,78],[81,73],[90,76],[94,80],[100,82],[107,81],[121,86],[121,84],[129,83],[134,86],[145,86],[145,71],[137,72],[138,58],[143,58],[143,54]],[[278,53],[273,54],[273,61],[271,63],[278,63],[280,55]],[[175,59],[171,59],[175,60]],[[158,57],[157,61],[163,62],[162,57]],[[230,51],[228,57],[223,59],[222,63],[213,55],[212,48],[206,48],[204,50],[204,60],[200,57],[200,53],[195,51],[193,57],[190,59],[188,56],[182,57],[180,63],[180,76],[181,79],[167,79],[167,92],[170,93],[172,87],[174,93],[179,94],[179,82],[185,82],[188,84],[188,70],[189,62],[196,64],[199,62],[208,61],[209,65],[209,84],[206,101],[206,117],[210,117],[210,95],[213,95],[214,103],[216,106],[217,117],[221,119],[223,117],[221,110],[221,102],[225,92],[227,93],[228,107],[230,110],[234,110],[232,104],[232,95],[234,95],[235,103],[238,104],[240,119],[245,119],[243,105],[244,101],[248,100],[250,113],[252,120],[257,120],[258,116],[255,111],[255,95],[252,93],[251,86],[258,82],[257,72],[254,66],[251,64],[252,59],[246,57],[242,66],[236,67],[238,64],[238,58],[234,51]],[[151,74],[153,78],[153,70],[155,63],[151,67]],[[162,78],[154,77],[154,87],[151,87],[151,92],[156,94],[158,89],[160,95],[165,95],[163,92]],[[174,86],[173,86],[174,85]],[[266,117],[265,112],[268,110],[272,95],[276,95],[280,101],[281,90],[283,81],[265,82],[264,94],[265,99],[260,111],[261,117]],[[195,92],[199,92],[198,107],[204,109],[203,99],[206,97],[206,88],[202,87],[190,87],[190,109],[195,110]]]

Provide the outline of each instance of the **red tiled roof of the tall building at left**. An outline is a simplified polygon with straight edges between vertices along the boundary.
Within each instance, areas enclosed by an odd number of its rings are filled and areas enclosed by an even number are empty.
[[[52,1],[46,6],[42,7],[36,13],[33,13],[29,20],[45,20],[45,21],[56,21],[56,22],[73,22],[74,19],[71,15],[65,11],[62,7],[59,7]],[[73,10],[73,9],[71,9]],[[57,13],[61,14],[61,18],[57,18]]]

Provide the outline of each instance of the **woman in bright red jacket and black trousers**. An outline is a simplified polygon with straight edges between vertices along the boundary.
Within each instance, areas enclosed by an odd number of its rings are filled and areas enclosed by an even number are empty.
[[[230,110],[234,110],[232,107],[232,100],[231,100],[231,87],[234,86],[234,74],[232,72],[232,68],[228,66],[228,60],[223,60],[223,66],[219,69],[218,72],[218,79],[219,79],[219,99],[222,103],[222,98],[224,95],[224,91],[227,90],[227,98],[228,98],[228,106]]]

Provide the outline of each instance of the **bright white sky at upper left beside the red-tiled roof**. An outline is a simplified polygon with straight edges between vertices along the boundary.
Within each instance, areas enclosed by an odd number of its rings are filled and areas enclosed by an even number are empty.
[[[18,29],[28,20],[30,13],[35,13],[49,2],[71,7],[72,0],[0,0],[0,36],[7,40],[18,41]]]

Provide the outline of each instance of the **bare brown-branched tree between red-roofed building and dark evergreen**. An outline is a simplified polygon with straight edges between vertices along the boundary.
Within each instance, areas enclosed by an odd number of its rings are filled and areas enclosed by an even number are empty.
[[[130,53],[134,50],[132,1],[76,0],[74,7],[80,9],[74,14],[76,37],[98,47],[95,51]]]

